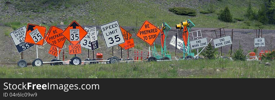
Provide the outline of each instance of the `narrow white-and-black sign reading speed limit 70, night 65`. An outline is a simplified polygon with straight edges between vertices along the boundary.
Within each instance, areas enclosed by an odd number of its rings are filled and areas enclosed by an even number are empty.
[[[92,42],[92,50],[98,49],[98,36],[96,34],[96,26],[89,28],[90,41]]]

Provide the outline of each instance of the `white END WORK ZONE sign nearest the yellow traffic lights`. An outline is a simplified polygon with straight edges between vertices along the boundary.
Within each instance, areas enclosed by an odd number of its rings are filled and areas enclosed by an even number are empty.
[[[197,48],[207,46],[208,45],[207,43],[208,43],[207,38],[202,38],[202,39],[190,41],[190,46],[191,46],[191,49],[197,49]]]

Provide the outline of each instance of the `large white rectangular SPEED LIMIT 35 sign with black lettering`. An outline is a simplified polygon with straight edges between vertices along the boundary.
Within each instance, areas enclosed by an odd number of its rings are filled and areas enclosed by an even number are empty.
[[[107,48],[124,43],[124,38],[118,20],[100,26]]]

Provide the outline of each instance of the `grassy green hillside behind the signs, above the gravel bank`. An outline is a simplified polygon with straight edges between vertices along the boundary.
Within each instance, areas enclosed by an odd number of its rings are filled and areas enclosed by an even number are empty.
[[[201,14],[200,10],[208,10],[212,8],[219,12],[220,9],[224,9],[228,5],[233,18],[247,20],[244,17],[246,12],[247,2],[251,2],[253,9],[258,10],[262,1],[256,0],[222,0],[213,2],[204,2],[204,4],[197,3],[196,6],[190,8],[196,9],[197,15],[195,17],[177,15],[169,11],[170,3],[176,3],[181,5],[181,1],[166,1],[165,3],[153,3],[156,1],[100,1],[100,0],[40,0],[31,3],[31,1],[19,2],[11,0],[12,5],[15,6],[17,12],[22,11],[22,16],[1,16],[0,19],[4,23],[10,21],[19,21],[21,23],[28,23],[33,20],[42,20],[43,18],[51,18],[54,22],[49,22],[50,25],[59,24],[61,21],[65,25],[68,25],[71,21],[76,20],[81,25],[102,25],[110,21],[118,20],[121,26],[136,26],[136,17],[138,17],[138,26],[141,26],[145,20],[152,22],[153,24],[160,24],[160,22],[166,22],[168,25],[173,26],[180,21],[190,19],[196,27],[205,28],[219,28],[229,26],[228,28],[247,28],[255,29],[257,22],[249,21],[251,25],[247,25],[243,21],[236,22],[223,22],[217,19],[217,13]],[[186,1],[188,2],[188,1]],[[2,2],[4,3],[4,2]],[[25,5],[25,6],[19,6]],[[80,6],[81,5],[81,6]],[[85,5],[85,6],[83,6]],[[88,6],[90,5],[90,6]],[[210,6],[212,5],[212,6]],[[3,8],[7,8],[9,5],[4,5]],[[159,9],[161,8],[161,9]],[[85,10],[85,11],[81,11]],[[84,14],[84,15],[83,15]],[[63,15],[65,15],[63,17]],[[24,17],[25,16],[25,17]],[[60,19],[61,17],[61,19]],[[96,19],[95,21],[91,19]],[[37,22],[38,23],[38,22]],[[34,23],[34,24],[37,24]],[[262,25],[264,29],[274,29],[275,25]]]

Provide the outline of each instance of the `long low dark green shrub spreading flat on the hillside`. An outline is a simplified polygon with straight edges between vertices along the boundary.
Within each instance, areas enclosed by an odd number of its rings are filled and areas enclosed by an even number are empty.
[[[173,7],[169,8],[169,11],[174,12],[178,15],[196,16],[196,10],[186,7]]]

